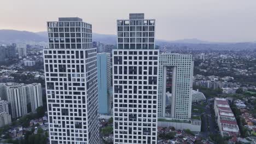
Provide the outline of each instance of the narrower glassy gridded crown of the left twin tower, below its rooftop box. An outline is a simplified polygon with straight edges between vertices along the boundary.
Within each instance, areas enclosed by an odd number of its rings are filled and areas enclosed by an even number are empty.
[[[91,25],[82,21],[47,22],[50,49],[89,49]]]

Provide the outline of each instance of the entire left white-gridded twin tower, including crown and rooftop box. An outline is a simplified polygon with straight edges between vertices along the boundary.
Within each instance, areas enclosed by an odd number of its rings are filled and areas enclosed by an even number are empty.
[[[44,68],[50,143],[97,144],[97,56],[91,25],[78,17],[47,25]]]

